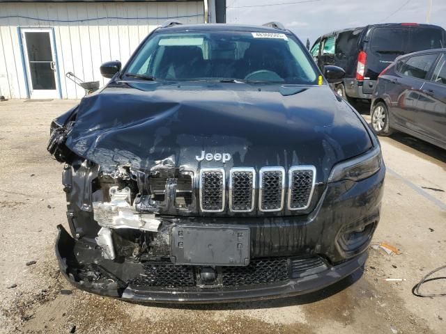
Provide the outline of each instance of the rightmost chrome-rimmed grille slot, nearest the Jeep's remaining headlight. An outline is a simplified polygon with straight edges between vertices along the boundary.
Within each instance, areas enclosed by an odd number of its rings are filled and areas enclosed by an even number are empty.
[[[305,210],[312,200],[316,168],[293,166],[289,170],[288,209]]]

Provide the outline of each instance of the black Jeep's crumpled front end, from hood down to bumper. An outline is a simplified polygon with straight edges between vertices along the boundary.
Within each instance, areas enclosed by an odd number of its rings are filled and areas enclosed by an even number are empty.
[[[239,301],[315,291],[362,267],[385,168],[333,168],[376,157],[356,116],[341,124],[352,140],[282,102],[277,120],[268,109],[259,118],[254,101],[233,113],[221,92],[200,90],[217,99],[203,108],[169,87],[135,93],[130,106],[133,88],[107,89],[54,120],[48,145],[64,164],[70,233],[58,226],[56,255],[72,284],[132,301]],[[358,168],[371,172],[359,180]]]

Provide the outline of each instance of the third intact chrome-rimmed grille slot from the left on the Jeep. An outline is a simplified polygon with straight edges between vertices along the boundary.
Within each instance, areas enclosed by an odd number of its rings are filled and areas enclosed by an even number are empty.
[[[284,208],[285,169],[263,167],[260,170],[259,210],[275,212]]]

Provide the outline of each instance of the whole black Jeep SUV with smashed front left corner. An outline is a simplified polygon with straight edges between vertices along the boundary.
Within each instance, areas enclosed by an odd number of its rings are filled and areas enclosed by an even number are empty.
[[[327,79],[339,67],[326,66]],[[279,24],[169,22],[56,118],[71,283],[133,301],[302,294],[362,267],[380,217],[376,136]]]

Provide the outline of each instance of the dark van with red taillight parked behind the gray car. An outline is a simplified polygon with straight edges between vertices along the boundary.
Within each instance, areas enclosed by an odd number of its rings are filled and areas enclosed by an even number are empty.
[[[430,24],[372,24],[333,31],[316,40],[310,53],[323,70],[336,65],[346,71],[334,85],[349,100],[370,100],[378,75],[397,56],[445,46],[446,31]]]

